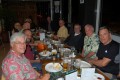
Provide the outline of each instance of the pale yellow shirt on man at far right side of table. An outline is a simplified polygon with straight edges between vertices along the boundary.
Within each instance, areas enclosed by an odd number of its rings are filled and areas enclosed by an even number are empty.
[[[60,27],[58,32],[57,32],[57,36],[58,37],[67,38],[68,37],[68,30],[67,30],[67,28],[65,26]]]

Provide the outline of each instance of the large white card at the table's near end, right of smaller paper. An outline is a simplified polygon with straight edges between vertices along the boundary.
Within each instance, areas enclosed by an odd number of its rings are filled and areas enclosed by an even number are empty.
[[[81,80],[94,80],[95,68],[82,68]]]

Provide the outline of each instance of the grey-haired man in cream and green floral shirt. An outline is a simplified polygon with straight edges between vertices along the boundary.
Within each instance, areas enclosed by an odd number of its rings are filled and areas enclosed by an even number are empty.
[[[82,51],[82,56],[85,59],[96,58],[96,52],[99,46],[99,38],[94,33],[94,28],[92,25],[85,25],[86,36],[84,38],[84,47]]]

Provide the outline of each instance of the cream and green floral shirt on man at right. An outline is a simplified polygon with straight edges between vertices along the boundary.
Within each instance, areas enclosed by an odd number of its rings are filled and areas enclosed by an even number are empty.
[[[84,55],[86,56],[90,52],[94,52],[95,54],[91,58],[96,57],[96,52],[99,47],[99,38],[96,34],[92,34],[92,36],[85,36],[84,38]]]

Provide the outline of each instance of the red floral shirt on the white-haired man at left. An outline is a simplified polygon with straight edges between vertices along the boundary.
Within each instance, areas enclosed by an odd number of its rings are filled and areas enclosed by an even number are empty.
[[[22,54],[10,50],[2,62],[2,71],[6,80],[35,80],[37,74],[29,60]]]

